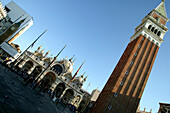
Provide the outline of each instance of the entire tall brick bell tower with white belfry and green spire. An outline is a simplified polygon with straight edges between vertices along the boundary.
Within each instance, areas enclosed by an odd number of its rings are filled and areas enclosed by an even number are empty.
[[[136,27],[91,113],[136,113],[168,20],[162,0]]]

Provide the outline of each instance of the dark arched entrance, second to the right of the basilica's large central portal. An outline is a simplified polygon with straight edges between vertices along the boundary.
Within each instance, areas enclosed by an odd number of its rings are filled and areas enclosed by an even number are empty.
[[[72,100],[74,97],[74,92],[72,89],[68,89],[66,91],[66,93],[64,94],[64,96],[62,97],[62,100],[64,103],[69,103],[70,100]]]

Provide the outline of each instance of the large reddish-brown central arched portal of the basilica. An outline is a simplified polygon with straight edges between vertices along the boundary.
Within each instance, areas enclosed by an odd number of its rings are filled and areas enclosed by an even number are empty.
[[[52,72],[48,72],[41,80],[41,86],[47,86],[48,88],[50,88],[50,86],[55,82],[55,80],[55,74]]]

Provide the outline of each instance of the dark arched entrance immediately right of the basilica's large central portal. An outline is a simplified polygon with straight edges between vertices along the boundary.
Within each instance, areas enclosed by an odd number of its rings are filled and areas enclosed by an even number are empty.
[[[59,83],[54,90],[55,96],[59,98],[64,90],[65,90],[65,85],[63,83]]]

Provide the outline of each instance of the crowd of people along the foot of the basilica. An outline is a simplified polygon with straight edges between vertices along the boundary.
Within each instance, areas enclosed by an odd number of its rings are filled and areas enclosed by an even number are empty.
[[[76,111],[76,107],[71,104],[65,104],[63,103],[62,99],[55,96],[55,91],[52,91],[48,85],[44,83],[43,80],[36,81],[35,77],[31,74],[28,74],[27,72],[24,72],[20,70],[18,65],[16,64],[16,61],[12,58],[5,57],[0,54],[0,63],[5,66],[6,68],[10,69],[11,71],[17,73],[22,79],[23,79],[23,86],[30,86],[33,90],[37,89],[37,95],[40,96],[49,96],[49,98],[53,101],[54,104],[62,104],[64,106],[69,107],[71,111]],[[37,86],[37,87],[35,87]]]

